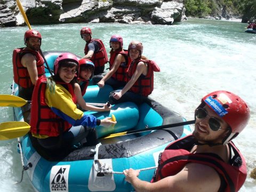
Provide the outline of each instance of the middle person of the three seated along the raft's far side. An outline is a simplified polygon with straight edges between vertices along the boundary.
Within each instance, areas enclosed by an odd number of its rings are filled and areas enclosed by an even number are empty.
[[[92,80],[100,88],[106,83],[116,90],[119,87],[124,87],[126,84],[126,71],[131,59],[128,57],[128,51],[123,50],[123,37],[121,35],[112,35],[109,45],[111,48],[109,59],[110,71],[105,76],[95,75]]]

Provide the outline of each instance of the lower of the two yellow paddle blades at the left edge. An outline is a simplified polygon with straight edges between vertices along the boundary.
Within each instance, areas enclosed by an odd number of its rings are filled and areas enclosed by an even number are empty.
[[[22,137],[30,129],[26,122],[4,122],[0,123],[0,140]]]

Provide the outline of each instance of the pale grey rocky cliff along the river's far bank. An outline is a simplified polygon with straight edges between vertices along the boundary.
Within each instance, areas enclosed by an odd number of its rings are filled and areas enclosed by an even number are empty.
[[[183,0],[20,0],[31,24],[119,22],[171,25],[186,19]],[[24,20],[16,1],[0,0],[0,25]]]

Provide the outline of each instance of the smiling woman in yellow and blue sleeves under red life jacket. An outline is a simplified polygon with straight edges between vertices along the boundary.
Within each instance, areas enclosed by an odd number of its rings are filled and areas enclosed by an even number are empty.
[[[30,132],[31,138],[47,151],[58,153],[58,150],[69,149],[77,143],[96,145],[98,140],[94,127],[116,124],[110,117],[100,120],[77,109],[74,93],[77,70],[77,57],[71,53],[62,53],[54,61],[55,75],[39,78],[36,82]]]

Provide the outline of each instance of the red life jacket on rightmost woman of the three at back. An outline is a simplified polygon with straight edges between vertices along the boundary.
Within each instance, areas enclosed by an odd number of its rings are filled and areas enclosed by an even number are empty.
[[[147,97],[154,89],[154,71],[159,72],[160,68],[157,66],[156,62],[152,60],[133,61],[127,69],[127,82],[131,80],[140,61],[147,63],[148,73],[146,76],[141,74],[137,81],[132,85],[130,91]]]

